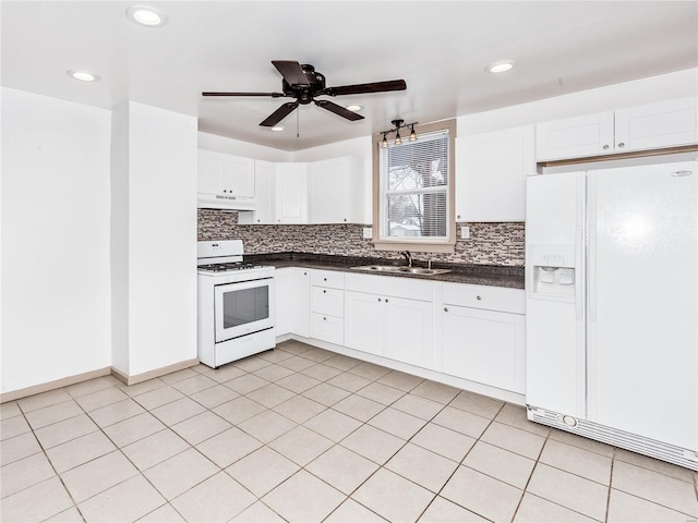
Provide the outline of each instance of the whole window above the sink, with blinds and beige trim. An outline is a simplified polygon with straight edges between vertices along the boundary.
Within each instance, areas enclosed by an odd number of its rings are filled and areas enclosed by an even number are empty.
[[[416,127],[418,139],[374,144],[374,244],[453,252],[455,121]]]

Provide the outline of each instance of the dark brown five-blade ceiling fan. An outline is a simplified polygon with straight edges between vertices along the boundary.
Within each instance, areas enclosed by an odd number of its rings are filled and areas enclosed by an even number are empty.
[[[202,93],[203,96],[270,96],[272,98],[289,97],[296,101],[288,101],[267,117],[260,125],[273,127],[288,117],[299,105],[308,105],[311,101],[347,120],[363,120],[349,109],[345,109],[329,100],[316,100],[316,96],[361,95],[364,93],[385,93],[388,90],[405,90],[407,84],[404,80],[390,80],[387,82],[373,82],[370,84],[342,85],[340,87],[325,87],[325,76],[315,71],[313,65],[300,64],[293,60],[273,60],[274,66],[281,73],[282,93]]]

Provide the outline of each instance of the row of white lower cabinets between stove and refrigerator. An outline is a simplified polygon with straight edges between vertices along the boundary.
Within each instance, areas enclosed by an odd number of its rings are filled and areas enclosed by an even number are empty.
[[[318,269],[276,275],[277,336],[346,346],[484,390],[525,391],[522,289]]]

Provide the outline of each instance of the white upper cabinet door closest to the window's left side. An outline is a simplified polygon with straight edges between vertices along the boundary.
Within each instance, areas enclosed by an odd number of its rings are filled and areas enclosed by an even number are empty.
[[[311,223],[353,221],[351,157],[314,161],[308,168]]]

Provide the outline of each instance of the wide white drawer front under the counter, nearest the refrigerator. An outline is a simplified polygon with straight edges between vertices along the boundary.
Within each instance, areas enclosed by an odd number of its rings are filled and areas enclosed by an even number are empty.
[[[444,304],[524,314],[526,293],[522,289],[444,283]]]

